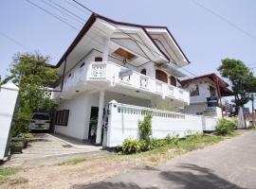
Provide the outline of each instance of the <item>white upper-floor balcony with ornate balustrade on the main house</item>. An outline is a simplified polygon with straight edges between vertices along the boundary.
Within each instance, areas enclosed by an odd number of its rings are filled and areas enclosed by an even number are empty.
[[[125,74],[125,72],[130,72]],[[120,74],[122,73],[122,74]],[[185,105],[190,103],[190,94],[180,88],[165,82],[142,75],[134,70],[122,67],[111,61],[89,62],[77,68],[64,79],[63,94],[80,90],[84,86],[98,87],[124,87],[147,94],[155,94],[162,98],[182,101]]]

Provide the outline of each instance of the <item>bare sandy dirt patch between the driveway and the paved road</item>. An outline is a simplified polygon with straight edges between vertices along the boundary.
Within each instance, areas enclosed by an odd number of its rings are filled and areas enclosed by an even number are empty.
[[[99,159],[92,162],[74,165],[46,165],[20,170],[10,179],[24,178],[27,183],[0,185],[0,188],[73,188],[77,184],[85,184],[105,180],[119,173],[127,172],[137,166],[137,163]]]

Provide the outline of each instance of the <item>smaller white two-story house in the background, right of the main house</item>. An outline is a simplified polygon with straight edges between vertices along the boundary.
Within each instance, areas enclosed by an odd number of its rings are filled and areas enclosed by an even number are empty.
[[[216,74],[192,77],[181,81],[190,92],[191,104],[183,112],[222,117],[222,97],[232,95],[229,84]]]

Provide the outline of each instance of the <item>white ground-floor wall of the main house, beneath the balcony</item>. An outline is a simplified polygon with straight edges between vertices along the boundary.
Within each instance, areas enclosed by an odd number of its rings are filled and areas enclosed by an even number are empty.
[[[77,94],[69,100],[62,100],[59,110],[69,110],[68,125],[56,125],[55,131],[80,140],[87,140],[91,107],[99,107],[99,98],[99,92],[95,92]],[[147,107],[150,104],[150,101],[146,99],[129,96],[127,94],[105,92],[105,105],[113,99],[120,103],[129,103],[143,107]]]

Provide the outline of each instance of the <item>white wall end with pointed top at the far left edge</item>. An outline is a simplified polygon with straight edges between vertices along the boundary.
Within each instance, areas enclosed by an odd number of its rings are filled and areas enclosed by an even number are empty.
[[[14,112],[18,87],[13,83],[1,86],[0,90],[0,160],[4,159],[5,150],[9,137],[9,130]]]

